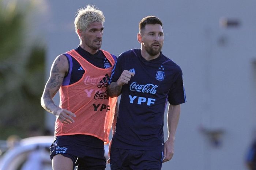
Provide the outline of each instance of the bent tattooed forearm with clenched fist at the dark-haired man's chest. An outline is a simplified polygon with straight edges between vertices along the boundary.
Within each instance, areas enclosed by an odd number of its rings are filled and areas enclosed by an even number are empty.
[[[111,82],[110,85],[108,85],[108,95],[110,97],[119,96],[121,94],[123,85],[128,84],[132,76],[134,76],[134,73],[124,70],[117,82]]]

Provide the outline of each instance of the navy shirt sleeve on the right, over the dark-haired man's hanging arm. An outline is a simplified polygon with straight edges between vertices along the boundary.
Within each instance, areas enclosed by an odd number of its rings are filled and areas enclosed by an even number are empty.
[[[182,78],[182,71],[179,68],[179,71],[177,72],[176,76],[174,77],[174,82],[169,90],[168,101],[172,105],[178,105],[185,103],[186,100],[186,94],[185,89],[183,86],[183,78]]]

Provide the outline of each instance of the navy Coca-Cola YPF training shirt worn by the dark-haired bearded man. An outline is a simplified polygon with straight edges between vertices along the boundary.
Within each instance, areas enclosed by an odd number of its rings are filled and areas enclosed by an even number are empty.
[[[181,68],[162,53],[147,61],[140,49],[133,49],[117,58],[109,83],[116,82],[124,70],[135,76],[122,87],[112,147],[163,151],[167,101],[186,102]]]

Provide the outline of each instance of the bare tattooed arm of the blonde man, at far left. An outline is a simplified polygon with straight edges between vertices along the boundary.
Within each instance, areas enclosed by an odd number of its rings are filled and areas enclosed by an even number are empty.
[[[59,55],[53,62],[52,68],[50,71],[50,77],[46,82],[44,92],[41,97],[42,107],[57,116],[62,123],[68,124],[74,122],[71,118],[75,116],[74,113],[69,112],[66,109],[61,109],[53,102],[53,97],[60,89],[60,86],[63,82],[64,76],[68,71],[68,60],[65,55]]]

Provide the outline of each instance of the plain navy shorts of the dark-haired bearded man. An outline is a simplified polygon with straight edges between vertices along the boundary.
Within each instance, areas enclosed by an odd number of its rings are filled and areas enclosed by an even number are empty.
[[[162,151],[141,151],[111,148],[111,170],[161,170]]]

